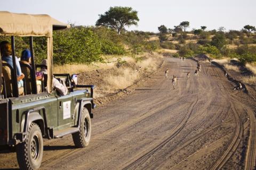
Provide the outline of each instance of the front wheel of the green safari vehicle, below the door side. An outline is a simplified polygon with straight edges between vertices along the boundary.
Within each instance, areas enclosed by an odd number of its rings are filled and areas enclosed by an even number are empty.
[[[82,111],[79,131],[72,133],[75,146],[79,148],[88,146],[91,139],[91,132],[91,117],[88,110],[84,107]]]

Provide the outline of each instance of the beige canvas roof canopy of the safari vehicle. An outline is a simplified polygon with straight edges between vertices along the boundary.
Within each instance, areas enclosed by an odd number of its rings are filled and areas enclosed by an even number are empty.
[[[52,37],[53,30],[69,27],[70,25],[45,14],[32,15],[0,11],[0,35]]]

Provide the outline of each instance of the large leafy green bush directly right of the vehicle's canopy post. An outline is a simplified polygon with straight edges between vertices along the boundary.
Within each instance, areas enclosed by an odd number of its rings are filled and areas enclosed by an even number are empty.
[[[53,32],[53,62],[57,64],[102,61],[101,43],[90,28],[71,28]]]

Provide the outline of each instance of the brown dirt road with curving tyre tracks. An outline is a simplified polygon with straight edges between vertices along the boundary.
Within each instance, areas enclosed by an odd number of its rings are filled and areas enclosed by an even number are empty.
[[[197,79],[195,61],[164,60],[132,94],[94,110],[89,147],[45,141],[42,169],[253,169],[255,101],[209,63]],[[17,167],[1,152],[0,169]]]

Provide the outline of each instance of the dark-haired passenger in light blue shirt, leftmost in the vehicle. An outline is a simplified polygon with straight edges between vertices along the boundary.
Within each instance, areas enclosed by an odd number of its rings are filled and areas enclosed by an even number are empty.
[[[0,43],[0,51],[1,51],[2,61],[8,63],[13,68],[11,44],[7,41],[2,41]],[[16,63],[16,69],[17,69],[19,95],[22,95],[24,92],[23,81],[22,81],[22,79],[24,78],[24,74],[21,72],[20,63],[16,56],[15,56],[15,63]]]

